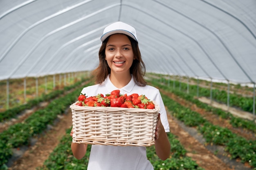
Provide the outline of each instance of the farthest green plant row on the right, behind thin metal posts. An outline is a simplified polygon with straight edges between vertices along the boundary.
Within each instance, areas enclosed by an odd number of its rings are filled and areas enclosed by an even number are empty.
[[[180,91],[187,92],[188,85],[187,83],[182,83],[179,81],[173,81],[166,78],[154,79],[154,81],[168,82],[169,84],[175,84],[175,87],[179,87]],[[177,88],[178,89],[178,88]],[[210,98],[211,91],[208,88],[198,87],[197,85],[189,85],[189,93],[193,96],[196,96],[198,92],[199,97],[204,96]],[[219,89],[212,89],[212,99],[218,102],[227,103],[227,92]],[[232,107],[239,107],[243,111],[253,112],[253,96],[252,97],[243,97],[239,94],[229,94],[229,105]]]

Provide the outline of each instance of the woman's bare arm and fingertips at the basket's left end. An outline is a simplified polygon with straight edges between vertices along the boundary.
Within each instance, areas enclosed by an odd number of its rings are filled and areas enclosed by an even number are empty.
[[[70,136],[73,135],[73,129],[70,133]],[[87,144],[78,144],[78,143],[71,143],[71,150],[76,159],[82,159],[87,150]]]

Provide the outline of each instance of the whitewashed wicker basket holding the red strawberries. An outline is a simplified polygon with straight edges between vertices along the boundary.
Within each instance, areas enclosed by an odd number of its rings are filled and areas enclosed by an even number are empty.
[[[73,142],[112,146],[152,146],[160,111],[72,104]]]

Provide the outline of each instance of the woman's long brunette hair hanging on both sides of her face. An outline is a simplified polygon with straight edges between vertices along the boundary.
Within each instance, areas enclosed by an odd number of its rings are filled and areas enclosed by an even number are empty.
[[[92,76],[94,76],[94,80],[96,84],[103,83],[103,81],[105,81],[105,79],[107,78],[108,74],[110,74],[110,71],[111,71],[107,61],[105,60],[106,44],[108,42],[109,37],[107,37],[102,42],[101,47],[99,49],[99,65],[91,73]],[[130,42],[132,45],[132,51],[135,57],[135,59],[132,62],[132,66],[130,67],[130,74],[133,75],[133,80],[137,85],[145,86],[147,84],[147,82],[144,79],[146,68],[145,68],[144,62],[141,59],[141,53],[139,51],[138,42],[129,36],[127,37],[130,39]]]

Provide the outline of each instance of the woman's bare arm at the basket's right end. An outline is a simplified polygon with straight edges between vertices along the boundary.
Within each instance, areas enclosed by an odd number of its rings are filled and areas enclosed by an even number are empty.
[[[155,136],[155,152],[160,159],[165,160],[171,154],[171,144],[168,140],[167,134],[164,131],[164,126],[160,120],[160,114],[158,114],[157,118]]]

